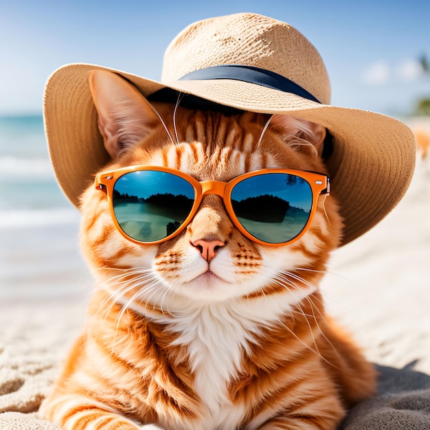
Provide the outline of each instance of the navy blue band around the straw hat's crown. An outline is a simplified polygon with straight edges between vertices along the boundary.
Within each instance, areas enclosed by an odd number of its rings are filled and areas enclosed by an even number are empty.
[[[209,80],[209,79],[233,79],[249,82],[251,84],[262,85],[271,89],[278,89],[284,93],[293,93],[300,97],[312,100],[313,102],[321,103],[309,91],[306,91],[299,84],[285,78],[270,70],[260,69],[258,67],[242,66],[242,65],[223,65],[207,67],[192,71],[179,80]]]

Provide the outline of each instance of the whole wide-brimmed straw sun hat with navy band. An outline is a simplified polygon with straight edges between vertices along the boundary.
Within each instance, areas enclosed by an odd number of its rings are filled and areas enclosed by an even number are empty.
[[[160,82],[96,65],[56,70],[45,89],[45,130],[58,183],[78,206],[93,174],[109,161],[87,83],[91,69],[111,70],[148,97],[163,88],[244,111],[280,113],[326,126],[331,191],[345,219],[342,245],[378,223],[405,193],[415,139],[391,117],[330,105],[323,60],[294,27],[258,14],[205,19],[168,46]]]

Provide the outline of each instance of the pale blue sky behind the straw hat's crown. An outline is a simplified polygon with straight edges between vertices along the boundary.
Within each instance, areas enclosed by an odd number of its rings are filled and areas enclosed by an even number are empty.
[[[399,116],[430,97],[429,1],[0,0],[0,115],[39,113],[49,75],[93,63],[159,79],[163,52],[188,24],[256,12],[285,21],[317,47],[332,104]]]

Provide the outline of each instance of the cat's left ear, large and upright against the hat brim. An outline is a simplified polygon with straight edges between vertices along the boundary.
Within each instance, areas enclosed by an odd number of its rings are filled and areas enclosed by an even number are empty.
[[[159,118],[148,100],[116,73],[91,70],[88,83],[104,147],[115,159],[148,135]]]

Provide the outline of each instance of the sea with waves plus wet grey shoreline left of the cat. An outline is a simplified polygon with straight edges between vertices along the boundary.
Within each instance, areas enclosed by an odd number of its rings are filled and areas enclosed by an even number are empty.
[[[79,212],[49,161],[42,115],[0,117],[0,300],[68,297],[89,271]]]

